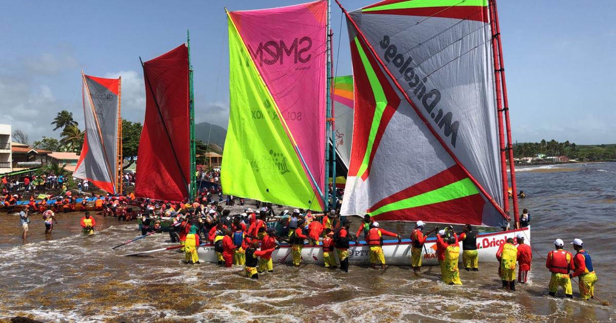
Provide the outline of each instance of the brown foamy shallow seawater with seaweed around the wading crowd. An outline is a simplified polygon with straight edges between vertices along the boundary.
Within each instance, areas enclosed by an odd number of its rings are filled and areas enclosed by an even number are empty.
[[[215,264],[184,265],[173,251],[147,257],[119,257],[168,246],[167,234],[154,234],[111,250],[139,236],[137,225],[96,216],[97,234],[81,237],[81,214],[57,216],[45,236],[34,215],[23,244],[17,215],[0,215],[0,318],[22,315],[41,321],[614,321],[612,306],[599,301],[565,300],[547,295],[546,253],[560,237],[568,244],[583,239],[599,276],[596,295],[616,302],[616,163],[563,165],[550,172],[518,172],[527,194],[521,207],[532,214],[531,282],[517,292],[500,289],[496,263],[481,263],[479,273],[461,272],[464,286],[439,282],[438,268],[416,276],[407,267],[386,273],[351,266],[340,273],[315,265],[299,270],[275,265],[259,281],[243,269]],[[573,169],[563,171],[559,169]],[[404,225],[385,224],[402,230]],[[355,225],[352,226],[355,228]],[[405,234],[405,235],[408,235]],[[577,286],[573,286],[577,297]]]

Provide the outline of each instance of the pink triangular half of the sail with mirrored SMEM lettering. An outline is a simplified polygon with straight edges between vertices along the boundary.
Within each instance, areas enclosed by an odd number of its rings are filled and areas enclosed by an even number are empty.
[[[326,11],[317,1],[229,12],[316,191],[324,186]]]

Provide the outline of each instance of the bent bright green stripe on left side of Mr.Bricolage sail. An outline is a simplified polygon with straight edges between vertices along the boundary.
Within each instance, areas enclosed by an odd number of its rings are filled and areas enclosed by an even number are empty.
[[[357,172],[357,176],[361,177],[363,172],[365,172],[368,168],[368,162],[370,162],[370,154],[372,153],[372,148],[375,143],[376,132],[381,124],[383,112],[387,106],[387,98],[385,97],[385,92],[383,91],[381,82],[379,82],[375,70],[373,70],[372,65],[370,65],[370,61],[368,61],[366,53],[363,52],[362,46],[360,45],[357,37],[355,37],[355,46],[357,46],[357,52],[359,52],[359,56],[362,58],[362,65],[368,76],[368,81],[370,82],[370,87],[372,88],[372,93],[375,96],[376,102],[375,116],[372,119],[370,135],[368,136],[368,143],[366,145],[366,154],[363,156],[362,165],[359,167],[359,171]]]

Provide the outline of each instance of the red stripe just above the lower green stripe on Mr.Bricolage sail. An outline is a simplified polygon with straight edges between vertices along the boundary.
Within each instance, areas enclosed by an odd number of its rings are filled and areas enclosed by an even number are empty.
[[[373,212],[374,210],[378,210],[380,207],[383,207],[387,204],[392,204],[394,202],[402,201],[403,199],[408,199],[413,196],[418,196],[419,194],[423,194],[429,191],[434,191],[434,189],[442,188],[445,185],[449,185],[451,183],[455,183],[456,181],[462,180],[466,178],[466,174],[461,169],[459,165],[453,165],[448,169],[443,170],[436,175],[426,178],[419,183],[416,183],[413,186],[403,189],[398,193],[395,193],[389,197],[385,197],[381,201],[377,202],[375,205],[368,209],[368,212]]]

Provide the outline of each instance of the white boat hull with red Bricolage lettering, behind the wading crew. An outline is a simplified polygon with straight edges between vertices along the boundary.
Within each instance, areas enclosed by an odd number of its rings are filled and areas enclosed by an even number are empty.
[[[530,244],[530,226],[527,228],[496,231],[490,233],[477,234],[477,251],[479,252],[480,262],[496,262],[496,251],[501,244],[504,244],[508,238],[513,238],[516,241],[516,234],[522,232],[525,236],[524,242]],[[383,252],[387,265],[410,266],[411,265],[411,244],[409,239],[404,239],[399,244],[395,240],[387,240],[383,244]],[[517,242],[516,242],[517,244]],[[432,237],[424,244],[421,257],[422,265],[438,265],[436,258],[436,238]],[[203,245],[198,247],[200,261],[208,261],[216,263],[216,253],[213,245]],[[359,245],[351,242],[349,247],[349,263],[351,265],[370,265],[370,247],[361,243]],[[461,251],[461,250],[460,250]],[[461,252],[460,252],[461,253]],[[290,245],[280,245],[280,249],[272,253],[274,263],[291,263]],[[338,261],[338,255],[336,255]],[[462,257],[460,256],[460,261]],[[323,265],[323,248],[321,245],[304,245],[302,249],[302,263],[312,263],[315,265]]]

